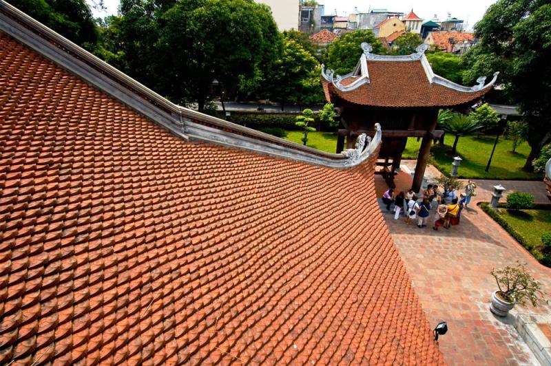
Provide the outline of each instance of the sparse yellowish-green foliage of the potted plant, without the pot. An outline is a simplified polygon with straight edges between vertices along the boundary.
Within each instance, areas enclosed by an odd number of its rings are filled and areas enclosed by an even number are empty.
[[[541,283],[526,272],[523,264],[517,262],[517,266],[506,266],[501,270],[492,270],[491,273],[499,288],[499,294],[505,300],[520,305],[530,301],[533,306],[538,305],[539,297],[543,295]]]

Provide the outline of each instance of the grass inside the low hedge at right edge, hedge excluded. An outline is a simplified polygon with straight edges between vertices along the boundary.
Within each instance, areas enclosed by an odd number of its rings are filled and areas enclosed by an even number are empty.
[[[542,255],[541,252],[539,252],[539,248],[542,245],[541,235],[543,235],[545,231],[551,231],[551,211],[534,209],[515,212],[501,209],[499,216],[523,237],[524,243],[521,244],[523,244],[534,257],[541,261]],[[543,263],[547,264],[547,261],[543,259]]]

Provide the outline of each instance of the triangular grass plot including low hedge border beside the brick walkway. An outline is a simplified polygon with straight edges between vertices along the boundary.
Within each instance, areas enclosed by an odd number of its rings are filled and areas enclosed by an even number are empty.
[[[500,208],[496,212],[489,208],[488,204],[481,204],[481,208],[543,265],[551,266],[551,256],[545,258],[540,251],[541,235],[551,231],[550,210],[534,208],[512,211]]]

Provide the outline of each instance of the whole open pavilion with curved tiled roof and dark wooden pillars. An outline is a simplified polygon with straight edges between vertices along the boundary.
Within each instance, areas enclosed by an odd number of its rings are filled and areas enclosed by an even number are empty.
[[[486,77],[481,77],[473,87],[458,85],[433,72],[425,56],[427,48],[423,44],[414,54],[382,56],[362,43],[360,61],[350,74],[334,76],[332,70],[322,68],[326,99],[340,111],[337,153],[344,149],[345,138],[346,146],[353,147],[357,136],[373,135],[375,123],[380,123],[383,143],[379,158],[385,162],[379,164],[393,186],[407,139],[422,138],[413,177],[416,192],[421,189],[430,144],[443,133],[436,129],[439,110],[467,111],[492,89],[498,74],[488,84]]]

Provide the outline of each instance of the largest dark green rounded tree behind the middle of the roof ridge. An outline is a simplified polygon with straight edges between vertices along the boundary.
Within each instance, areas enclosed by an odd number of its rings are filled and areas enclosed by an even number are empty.
[[[281,50],[269,8],[253,0],[122,0],[120,10],[116,45],[127,73],[200,111],[215,79],[234,94]]]

